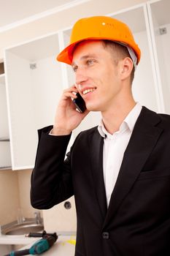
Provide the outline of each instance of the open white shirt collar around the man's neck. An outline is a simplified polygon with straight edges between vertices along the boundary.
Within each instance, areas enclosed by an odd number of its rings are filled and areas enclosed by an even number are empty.
[[[142,110],[142,105],[139,102],[136,102],[136,105],[128,113],[128,116],[125,117],[122,124],[120,125],[119,131],[117,132],[123,132],[125,131],[125,129],[129,129],[132,132],[141,110]],[[98,125],[98,132],[101,135],[101,137],[106,138],[107,136],[110,136],[110,133],[107,132],[107,129],[104,127],[104,123],[102,120],[101,120],[101,124]]]

